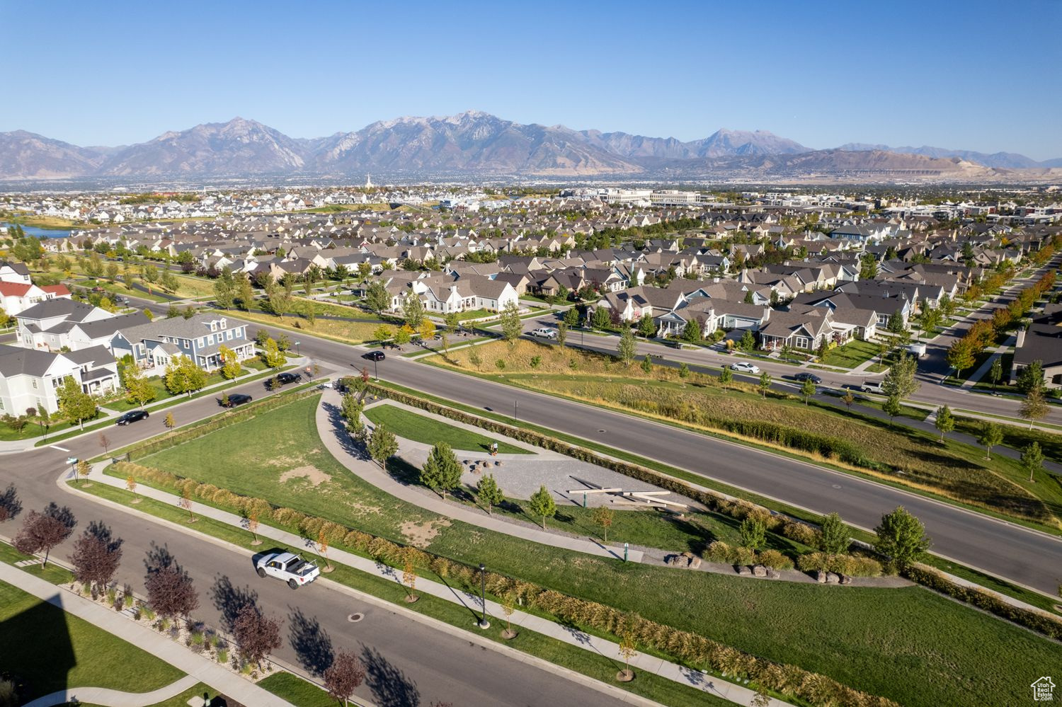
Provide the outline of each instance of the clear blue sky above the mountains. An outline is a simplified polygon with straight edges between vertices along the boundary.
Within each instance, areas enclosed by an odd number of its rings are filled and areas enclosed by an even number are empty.
[[[0,0],[0,131],[76,144],[404,115],[1062,157],[1062,1]]]

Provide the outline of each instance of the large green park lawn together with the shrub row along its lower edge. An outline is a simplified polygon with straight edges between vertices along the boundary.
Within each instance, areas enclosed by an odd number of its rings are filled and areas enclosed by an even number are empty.
[[[805,697],[812,702],[849,694],[834,683],[840,680],[902,703],[1005,704],[1024,694],[1005,666],[1044,665],[1059,657],[1058,644],[919,587],[821,587],[624,564],[450,521],[352,479],[320,449],[314,400],[249,412],[241,426],[218,426],[224,429],[210,428],[208,434],[201,429],[198,439],[177,433],[170,442],[162,438],[131,450],[139,464],[167,470],[134,469],[133,476],[144,485],[187,488],[193,498],[237,514],[246,504],[243,496],[264,497],[270,512],[262,515],[263,524],[312,540],[324,533],[335,540],[332,547],[396,568],[412,557],[416,571],[445,573],[450,584],[473,592],[479,579],[474,568],[483,562],[492,570],[487,582],[495,597],[513,591],[534,599],[539,606],[532,610],[598,626],[590,633],[615,630],[617,622],[637,614],[644,651],[665,652],[696,669],[749,676],[787,693],[806,694],[803,690],[815,685],[822,691]],[[480,427],[489,429],[487,421],[484,420]],[[506,429],[510,436],[531,441],[526,430]],[[176,444],[179,449],[168,449]],[[124,485],[130,468],[113,471]],[[654,478],[653,483],[660,482]],[[88,493],[100,488],[95,484]],[[107,487],[107,494],[127,493]],[[287,507],[276,507],[281,504]],[[151,511],[148,501],[134,507]],[[192,528],[213,532],[205,519]],[[246,531],[225,532],[242,534],[244,546],[250,542]],[[411,538],[418,538],[421,547],[405,550]],[[390,586],[400,590],[393,582]],[[911,616],[919,620],[897,618]],[[891,637],[885,650],[879,636]],[[984,652],[984,646],[1000,644],[1007,646],[1006,659],[997,651]],[[897,679],[897,660],[904,661],[904,679]],[[798,679],[793,676],[806,673],[780,663],[834,679]],[[943,673],[961,679],[935,677]]]

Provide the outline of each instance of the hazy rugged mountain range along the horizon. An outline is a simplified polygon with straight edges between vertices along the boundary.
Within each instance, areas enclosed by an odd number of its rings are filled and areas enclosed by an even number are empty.
[[[0,179],[307,175],[617,177],[845,177],[960,179],[1046,173],[1062,159],[849,143],[813,150],[766,131],[720,130],[683,142],[627,133],[521,124],[485,113],[377,121],[353,133],[291,138],[234,118],[118,148],[81,148],[0,133]]]

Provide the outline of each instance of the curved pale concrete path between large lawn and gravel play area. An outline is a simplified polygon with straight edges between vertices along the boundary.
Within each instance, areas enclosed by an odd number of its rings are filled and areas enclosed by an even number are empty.
[[[321,439],[324,442],[325,449],[328,450],[328,453],[335,456],[340,464],[349,469],[352,473],[371,483],[377,488],[427,511],[431,511],[456,520],[462,520],[473,525],[479,525],[480,528],[485,528],[498,533],[512,535],[513,537],[531,540],[532,542],[538,542],[539,545],[564,548],[565,550],[585,552],[586,554],[597,555],[599,557],[609,557],[610,559],[623,558],[622,548],[610,548],[595,540],[549,533],[537,528],[500,520],[493,516],[489,516],[485,513],[475,511],[458,503],[447,503],[441,498],[428,496],[427,494],[421,493],[416,488],[396,481],[377,464],[363,459],[361,449],[353,442],[353,439],[350,439],[349,433],[343,427],[343,423],[339,417],[340,402],[339,393],[332,390],[326,390],[324,392],[324,395],[321,397],[321,404],[318,406],[316,411],[318,434],[321,435]],[[426,413],[422,410],[417,410],[416,414],[431,416],[430,413]],[[369,420],[367,424],[372,426],[371,420]],[[475,429],[472,426],[462,426],[461,423],[457,423],[455,420],[446,420],[446,424],[453,425],[455,427],[467,427],[468,429]],[[407,441],[404,439],[402,442],[405,444]],[[553,454],[556,459],[568,459],[562,456],[561,454],[555,454],[554,452],[539,450],[536,447],[532,447],[531,445],[524,444],[516,439],[507,439],[506,442],[515,446],[526,447],[535,451],[535,453],[542,452],[545,454]],[[415,445],[417,443],[410,444]],[[427,445],[425,446],[427,447]],[[486,452],[462,451],[461,453],[469,459],[519,461],[528,458],[527,454],[498,454],[497,456],[491,456]],[[628,559],[635,563],[641,562],[641,551],[629,550]]]

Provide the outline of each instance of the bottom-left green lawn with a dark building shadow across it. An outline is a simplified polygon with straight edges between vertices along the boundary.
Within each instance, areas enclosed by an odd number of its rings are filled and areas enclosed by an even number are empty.
[[[0,582],[0,666],[27,684],[23,702],[66,687],[150,692],[184,673],[167,662]],[[21,637],[21,638],[17,638]]]

